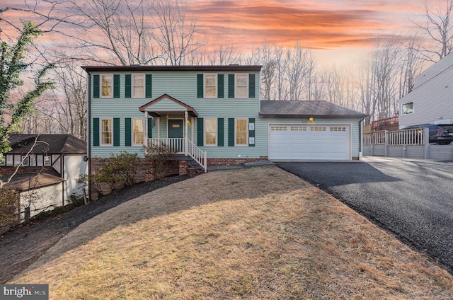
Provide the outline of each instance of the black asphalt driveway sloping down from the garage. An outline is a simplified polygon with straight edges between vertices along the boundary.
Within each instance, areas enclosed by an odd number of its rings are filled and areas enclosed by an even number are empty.
[[[453,161],[367,156],[276,163],[326,190],[453,274]]]

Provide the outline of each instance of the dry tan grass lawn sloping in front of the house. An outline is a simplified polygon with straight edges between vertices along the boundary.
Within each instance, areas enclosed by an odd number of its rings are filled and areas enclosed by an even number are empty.
[[[273,166],[121,204],[13,282],[50,299],[453,299],[448,272]]]

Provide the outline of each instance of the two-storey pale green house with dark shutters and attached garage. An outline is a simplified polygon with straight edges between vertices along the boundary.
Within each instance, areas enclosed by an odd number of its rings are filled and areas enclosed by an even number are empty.
[[[143,157],[144,145],[161,142],[203,168],[361,156],[365,114],[326,101],[261,101],[260,66],[83,68],[91,173],[110,154]],[[147,168],[147,161],[141,166]],[[138,176],[152,179],[146,170]]]

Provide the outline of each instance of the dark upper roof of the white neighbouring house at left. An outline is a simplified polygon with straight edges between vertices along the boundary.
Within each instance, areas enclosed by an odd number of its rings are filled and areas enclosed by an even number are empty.
[[[27,154],[32,147],[32,154],[86,154],[86,142],[71,134],[10,134],[9,143],[6,154]]]

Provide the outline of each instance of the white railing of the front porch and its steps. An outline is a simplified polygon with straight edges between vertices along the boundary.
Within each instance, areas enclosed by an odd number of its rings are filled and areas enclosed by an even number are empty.
[[[207,171],[207,153],[198,148],[193,142],[186,138],[151,138],[148,139],[148,146],[168,145],[175,149],[177,154],[184,154],[193,158],[202,168]]]

